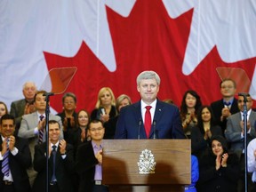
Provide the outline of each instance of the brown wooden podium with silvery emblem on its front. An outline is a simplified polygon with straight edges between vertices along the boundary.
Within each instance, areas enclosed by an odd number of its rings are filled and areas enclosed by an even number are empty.
[[[110,192],[184,191],[191,182],[190,140],[103,140],[102,172]]]

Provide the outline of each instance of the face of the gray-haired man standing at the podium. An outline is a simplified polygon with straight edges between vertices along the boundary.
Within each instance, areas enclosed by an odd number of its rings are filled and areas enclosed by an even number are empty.
[[[156,84],[156,79],[142,79],[140,84],[137,85],[137,90],[140,92],[141,100],[150,104],[156,100],[159,85]]]

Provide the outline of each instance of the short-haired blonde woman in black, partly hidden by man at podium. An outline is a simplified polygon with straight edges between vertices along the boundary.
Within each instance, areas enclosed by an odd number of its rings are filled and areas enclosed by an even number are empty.
[[[132,100],[128,95],[122,94],[116,99],[117,115],[113,118],[110,118],[108,122],[104,124],[104,127],[105,127],[104,139],[114,139],[115,132],[116,132],[116,122],[119,117],[119,112],[121,108],[131,104],[132,104]]]

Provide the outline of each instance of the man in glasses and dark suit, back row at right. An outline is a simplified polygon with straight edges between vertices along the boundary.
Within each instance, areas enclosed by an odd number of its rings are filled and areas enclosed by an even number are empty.
[[[223,135],[227,126],[227,118],[239,112],[235,98],[236,82],[233,79],[223,79],[220,82],[221,100],[212,102],[211,107],[216,123],[220,125]]]

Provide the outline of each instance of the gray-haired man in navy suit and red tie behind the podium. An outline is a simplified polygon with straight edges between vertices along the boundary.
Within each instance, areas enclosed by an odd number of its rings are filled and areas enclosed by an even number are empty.
[[[120,111],[115,139],[184,139],[179,108],[158,100],[160,77],[155,71],[143,71],[137,77],[141,100]],[[150,115],[147,111],[150,108]],[[149,118],[148,131],[145,119]],[[147,121],[146,121],[147,122]],[[150,126],[151,124],[151,126]]]

